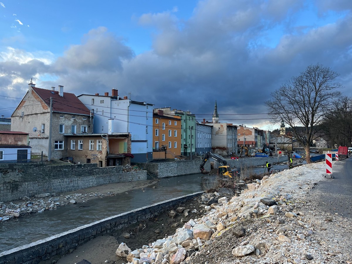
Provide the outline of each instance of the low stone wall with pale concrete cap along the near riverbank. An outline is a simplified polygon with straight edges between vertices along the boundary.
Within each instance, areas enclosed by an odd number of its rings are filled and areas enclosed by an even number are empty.
[[[121,228],[135,224],[139,221],[152,218],[164,210],[179,203],[190,200],[203,192],[185,195],[168,201],[155,203],[130,212],[111,216],[92,224],[77,227],[73,230],[54,235],[52,237],[33,242],[28,245],[0,253],[0,264],[25,263],[34,264],[48,260],[54,256],[71,253],[78,246],[99,235],[113,234]]]

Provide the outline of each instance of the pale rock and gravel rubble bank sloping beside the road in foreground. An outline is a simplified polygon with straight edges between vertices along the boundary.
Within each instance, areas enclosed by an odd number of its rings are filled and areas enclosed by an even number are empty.
[[[322,216],[305,200],[325,167],[304,167],[266,175],[231,199],[204,194],[204,216],[141,249],[121,244],[116,254],[130,264],[352,263],[351,221]]]

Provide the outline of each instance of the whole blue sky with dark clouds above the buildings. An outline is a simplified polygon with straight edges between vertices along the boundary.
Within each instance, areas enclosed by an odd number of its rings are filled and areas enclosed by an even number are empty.
[[[308,65],[352,96],[351,0],[0,0],[0,115],[36,87],[276,128],[264,104]],[[293,91],[294,93],[294,91]]]

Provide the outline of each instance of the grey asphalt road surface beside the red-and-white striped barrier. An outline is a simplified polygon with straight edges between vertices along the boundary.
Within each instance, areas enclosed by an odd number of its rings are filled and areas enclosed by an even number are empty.
[[[352,218],[352,157],[335,162],[332,170],[334,178],[322,176],[311,194],[321,210]]]

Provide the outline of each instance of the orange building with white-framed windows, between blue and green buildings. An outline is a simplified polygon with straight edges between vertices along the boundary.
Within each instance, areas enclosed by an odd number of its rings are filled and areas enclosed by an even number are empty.
[[[181,117],[153,111],[153,158],[175,158],[181,155]]]

